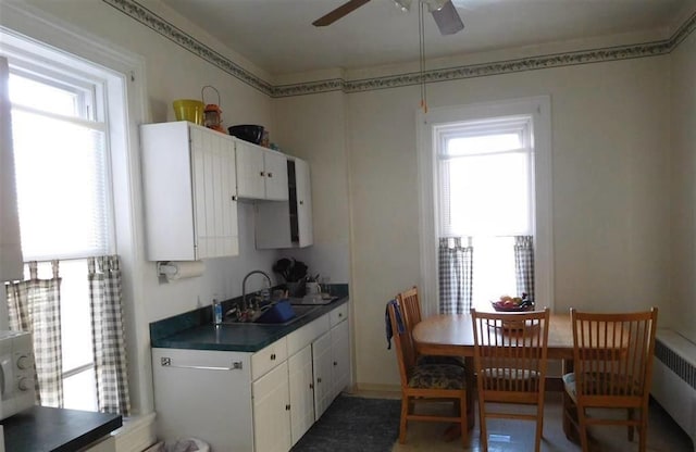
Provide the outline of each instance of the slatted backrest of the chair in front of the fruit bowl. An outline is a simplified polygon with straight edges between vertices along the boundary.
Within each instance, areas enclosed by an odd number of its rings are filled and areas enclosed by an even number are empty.
[[[485,399],[524,403],[522,399],[544,392],[549,313],[548,307],[520,313],[471,310],[474,368]]]

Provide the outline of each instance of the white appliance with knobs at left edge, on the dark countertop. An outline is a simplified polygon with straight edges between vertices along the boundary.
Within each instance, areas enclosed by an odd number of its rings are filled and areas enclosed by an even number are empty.
[[[0,331],[0,419],[35,404],[32,334]]]

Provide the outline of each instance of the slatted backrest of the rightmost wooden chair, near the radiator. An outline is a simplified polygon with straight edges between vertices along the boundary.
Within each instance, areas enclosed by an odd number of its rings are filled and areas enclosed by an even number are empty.
[[[647,400],[652,374],[657,307],[646,312],[605,314],[570,310],[573,326],[575,390],[597,398],[599,406]],[[625,398],[633,398],[626,401]],[[592,403],[593,405],[595,403]]]

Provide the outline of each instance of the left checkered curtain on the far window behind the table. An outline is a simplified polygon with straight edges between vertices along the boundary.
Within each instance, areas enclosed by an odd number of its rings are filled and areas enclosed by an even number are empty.
[[[473,293],[473,247],[471,237],[439,239],[439,312],[469,312]]]

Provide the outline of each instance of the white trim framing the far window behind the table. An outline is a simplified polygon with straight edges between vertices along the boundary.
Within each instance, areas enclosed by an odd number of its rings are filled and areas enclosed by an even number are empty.
[[[437,174],[434,152],[435,128],[447,123],[481,117],[527,114],[533,121],[534,136],[534,210],[535,250],[534,293],[540,305],[554,310],[554,227],[551,180],[551,100],[550,96],[436,108],[417,115],[418,166],[420,181],[420,251],[422,304],[425,315],[438,312],[437,275]]]

